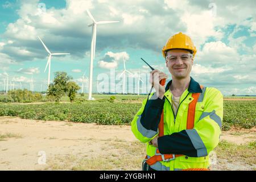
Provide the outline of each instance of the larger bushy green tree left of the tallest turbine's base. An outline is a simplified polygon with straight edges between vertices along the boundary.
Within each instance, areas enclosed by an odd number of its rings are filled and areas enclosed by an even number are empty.
[[[54,97],[55,102],[59,102],[61,97],[67,93],[67,84],[72,77],[68,76],[66,72],[55,72],[53,84],[49,84],[47,89],[47,96]]]

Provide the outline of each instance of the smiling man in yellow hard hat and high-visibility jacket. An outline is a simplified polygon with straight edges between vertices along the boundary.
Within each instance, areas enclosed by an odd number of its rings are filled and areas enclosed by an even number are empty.
[[[144,100],[131,130],[147,143],[146,170],[207,170],[209,152],[218,144],[223,118],[223,96],[216,88],[200,86],[190,77],[196,47],[189,36],[176,34],[163,48],[172,80],[151,71],[156,92]],[[146,165],[145,165],[146,164]]]

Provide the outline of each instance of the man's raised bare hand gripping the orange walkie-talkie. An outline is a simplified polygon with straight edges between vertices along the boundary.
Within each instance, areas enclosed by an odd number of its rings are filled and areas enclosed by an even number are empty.
[[[164,72],[160,72],[158,69],[155,69],[150,72],[150,83],[154,86],[156,90],[156,96],[160,99],[163,99],[164,93],[166,92],[164,85],[160,85],[160,80],[167,79],[168,75]]]

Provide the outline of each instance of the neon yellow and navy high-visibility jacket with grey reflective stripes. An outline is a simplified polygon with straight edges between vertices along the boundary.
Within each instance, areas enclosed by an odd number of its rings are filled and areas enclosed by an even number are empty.
[[[159,161],[150,166],[155,170],[174,171],[191,168],[209,168],[209,152],[218,144],[223,118],[223,96],[216,88],[201,89],[191,77],[188,89],[180,97],[176,117],[172,109],[171,82],[166,86],[163,100],[152,93],[145,99],[141,109],[131,122],[135,137],[147,143],[147,158],[156,154],[175,154],[179,157],[166,162]],[[187,129],[188,106],[193,101],[192,94],[200,93],[195,108],[193,129]],[[158,148],[149,142],[159,134],[159,121],[163,112],[164,136],[158,138]],[[158,150],[157,150],[158,149]]]

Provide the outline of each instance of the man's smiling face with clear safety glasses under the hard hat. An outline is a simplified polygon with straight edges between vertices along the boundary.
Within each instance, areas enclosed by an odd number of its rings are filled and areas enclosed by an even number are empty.
[[[193,57],[190,54],[182,49],[172,49],[166,53],[166,67],[173,78],[182,79],[189,76],[193,65]]]

